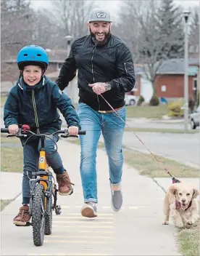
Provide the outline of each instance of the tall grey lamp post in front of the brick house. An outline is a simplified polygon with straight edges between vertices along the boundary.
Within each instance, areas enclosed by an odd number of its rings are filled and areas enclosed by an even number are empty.
[[[188,17],[189,11],[183,12],[185,19],[185,73],[184,73],[184,124],[185,131],[188,131]]]

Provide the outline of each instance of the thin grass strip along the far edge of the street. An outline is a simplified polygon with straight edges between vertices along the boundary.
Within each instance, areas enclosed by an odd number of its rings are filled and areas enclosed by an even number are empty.
[[[149,128],[149,127],[133,127],[133,132],[161,132],[161,133],[198,133],[199,129],[196,130],[188,130],[185,131],[184,129],[169,129],[169,128]],[[125,132],[130,132],[130,128],[125,127]]]

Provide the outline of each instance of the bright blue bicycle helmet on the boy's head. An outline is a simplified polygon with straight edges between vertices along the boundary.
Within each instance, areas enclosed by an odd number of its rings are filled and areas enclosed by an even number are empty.
[[[45,49],[38,45],[28,45],[23,47],[17,55],[17,65],[20,70],[26,65],[38,65],[46,70],[48,64],[49,58]]]

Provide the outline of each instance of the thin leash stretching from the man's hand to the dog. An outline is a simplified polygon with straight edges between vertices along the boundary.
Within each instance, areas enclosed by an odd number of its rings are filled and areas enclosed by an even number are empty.
[[[101,94],[100,94],[101,95]],[[180,180],[176,179],[174,176],[172,176],[170,174],[170,172],[167,170],[166,167],[164,167],[164,164],[162,164],[161,161],[159,161],[159,159],[157,159],[157,157],[154,155],[154,153],[152,153],[149,148],[146,147],[146,145],[143,143],[143,141],[140,139],[140,137],[138,137],[138,135],[136,135],[136,132],[133,131],[132,128],[129,127],[129,125],[121,118],[120,115],[118,115],[117,111],[114,110],[114,108],[112,108],[112,105],[110,105],[108,103],[108,101],[104,98],[104,96],[101,95],[101,97],[104,99],[104,101],[109,105],[109,107],[112,109],[112,111],[114,111],[114,113],[116,113],[116,115],[122,120],[123,123],[125,123],[125,125],[130,129],[131,132],[133,132],[133,134],[138,138],[138,140],[145,146],[145,148],[149,151],[149,153],[151,153],[151,156],[154,157],[154,159],[156,159],[158,161],[158,163],[161,165],[161,167],[164,169],[165,172],[167,172],[168,175],[170,175],[170,177],[172,178],[172,183],[180,183]]]

